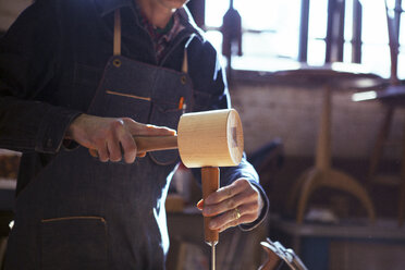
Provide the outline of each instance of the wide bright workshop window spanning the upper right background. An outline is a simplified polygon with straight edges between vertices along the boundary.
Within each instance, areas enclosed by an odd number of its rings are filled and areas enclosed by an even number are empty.
[[[388,0],[392,10],[398,3],[405,10],[405,1]],[[384,0],[234,0],[233,5],[243,28],[243,56],[232,58],[233,69],[274,71],[297,61],[310,65],[341,61],[363,63],[371,72],[390,76]],[[220,27],[229,7],[230,0],[206,0],[207,37],[219,51]],[[328,20],[331,12],[333,19]],[[400,28],[404,25],[402,12]],[[405,30],[398,34],[398,77],[404,78]]]

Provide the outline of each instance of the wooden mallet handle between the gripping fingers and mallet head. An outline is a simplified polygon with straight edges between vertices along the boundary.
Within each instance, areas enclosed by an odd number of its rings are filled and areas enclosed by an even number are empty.
[[[134,136],[137,151],[177,149],[177,136]]]

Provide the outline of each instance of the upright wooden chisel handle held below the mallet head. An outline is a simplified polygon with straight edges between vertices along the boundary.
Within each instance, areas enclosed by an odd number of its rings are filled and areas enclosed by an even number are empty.
[[[214,193],[219,188],[220,170],[218,167],[204,167],[201,168],[201,181],[202,181],[202,199],[206,199],[211,193]],[[208,245],[214,246],[219,240],[218,230],[210,230],[208,228],[211,218],[204,218],[204,232],[205,240]]]

